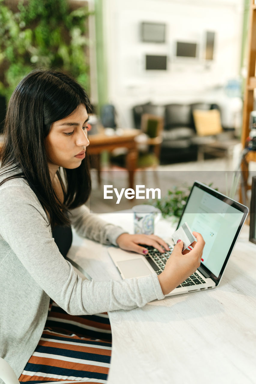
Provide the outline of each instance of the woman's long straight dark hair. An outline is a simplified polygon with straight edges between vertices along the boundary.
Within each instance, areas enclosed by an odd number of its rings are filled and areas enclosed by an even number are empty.
[[[53,189],[47,163],[45,138],[51,124],[69,116],[80,104],[88,114],[93,112],[85,90],[70,76],[52,70],[30,72],[13,91],[10,98],[4,126],[4,145],[1,168],[18,170],[3,182],[14,177],[27,180],[48,212],[50,225],[69,225],[68,209],[84,204],[91,192],[88,156],[75,169],[64,168],[66,189],[62,185],[62,203]],[[3,169],[2,169],[3,170]]]

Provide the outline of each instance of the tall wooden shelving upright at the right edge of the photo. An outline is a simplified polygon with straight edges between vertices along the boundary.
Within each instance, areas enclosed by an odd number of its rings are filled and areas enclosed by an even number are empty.
[[[249,118],[250,113],[253,111],[254,103],[254,89],[256,89],[256,76],[255,76],[255,67],[256,67],[256,4],[254,0],[251,0],[250,3],[250,14],[249,14],[249,28],[248,28],[248,74],[246,81],[246,88],[244,90],[244,107],[243,107],[243,128],[241,142],[243,148],[245,147],[245,142],[249,136]],[[256,151],[251,151],[246,154],[244,157],[241,170],[243,171],[243,181],[244,181],[244,193],[240,190],[240,200],[244,204],[247,203],[246,195],[247,191],[251,189],[251,185],[248,184],[248,169],[249,162],[256,162]]]

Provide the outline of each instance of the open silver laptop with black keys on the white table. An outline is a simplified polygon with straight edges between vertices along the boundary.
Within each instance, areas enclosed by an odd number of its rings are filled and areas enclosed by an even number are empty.
[[[211,289],[219,285],[248,212],[248,207],[243,204],[207,185],[194,182],[177,229],[187,222],[192,231],[201,233],[205,241],[201,264],[193,275],[166,296]],[[159,275],[173,247],[170,245],[169,252],[161,253],[146,246],[149,250],[146,256],[116,247],[109,247],[108,253],[121,277],[131,278],[148,276],[154,272]]]

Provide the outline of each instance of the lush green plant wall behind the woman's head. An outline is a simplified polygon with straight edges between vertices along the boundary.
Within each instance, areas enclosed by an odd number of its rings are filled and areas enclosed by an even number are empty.
[[[0,0],[0,94],[8,100],[36,68],[70,73],[89,88],[87,7],[71,11],[66,0],[18,2],[13,12]]]

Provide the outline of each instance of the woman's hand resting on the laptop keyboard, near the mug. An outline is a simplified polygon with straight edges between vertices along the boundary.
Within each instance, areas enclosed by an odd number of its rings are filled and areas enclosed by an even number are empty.
[[[158,249],[160,252],[165,252],[163,248],[169,251],[166,242],[156,235],[130,235],[129,233],[122,233],[116,239],[116,243],[118,247],[126,251],[141,253],[141,255],[146,255],[148,250],[139,244],[151,245],[151,247]]]

